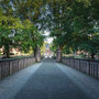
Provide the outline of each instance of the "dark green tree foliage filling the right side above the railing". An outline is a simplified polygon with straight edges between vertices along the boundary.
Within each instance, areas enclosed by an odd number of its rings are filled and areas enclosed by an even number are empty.
[[[54,48],[64,53],[99,52],[99,0],[53,0],[50,2]]]

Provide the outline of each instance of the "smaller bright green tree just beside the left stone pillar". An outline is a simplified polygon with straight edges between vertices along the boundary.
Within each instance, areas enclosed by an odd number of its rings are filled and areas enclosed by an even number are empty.
[[[24,21],[23,25],[24,30],[22,30],[23,33],[20,36],[22,38],[22,50],[28,52],[32,48],[35,56],[37,46],[41,47],[43,45],[44,36],[30,20]]]

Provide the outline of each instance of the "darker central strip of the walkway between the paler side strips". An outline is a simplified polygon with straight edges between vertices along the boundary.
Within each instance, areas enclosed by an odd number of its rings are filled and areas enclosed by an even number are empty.
[[[89,99],[53,62],[44,59],[14,99]]]

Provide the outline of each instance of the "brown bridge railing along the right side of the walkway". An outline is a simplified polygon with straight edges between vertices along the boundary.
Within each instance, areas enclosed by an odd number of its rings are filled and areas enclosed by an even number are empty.
[[[99,79],[99,61],[63,57],[62,63]]]

